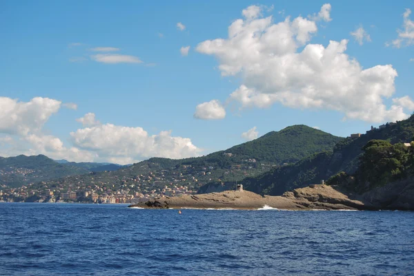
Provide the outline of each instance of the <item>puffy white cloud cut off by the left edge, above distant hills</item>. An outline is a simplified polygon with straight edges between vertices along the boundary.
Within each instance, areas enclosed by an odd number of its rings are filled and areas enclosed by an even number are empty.
[[[52,114],[58,112],[59,100],[32,98],[29,102],[0,97],[0,133],[27,135],[40,131]]]

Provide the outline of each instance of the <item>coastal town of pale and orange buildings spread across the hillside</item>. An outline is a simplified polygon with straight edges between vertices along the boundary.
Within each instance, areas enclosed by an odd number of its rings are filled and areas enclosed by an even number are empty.
[[[223,153],[226,158],[234,157]],[[152,163],[157,167],[156,163]],[[268,171],[273,166],[259,164],[248,158],[242,164],[233,164],[228,169],[213,166],[195,167],[184,164],[169,169],[152,169],[139,175],[128,174],[128,169],[90,172],[87,176],[67,176],[57,180],[31,182],[21,187],[0,186],[1,202],[83,202],[83,203],[135,203],[155,198],[190,195],[208,182],[221,182],[231,178],[242,179],[258,172]],[[9,168],[10,169],[10,168]],[[0,176],[14,174],[28,176],[36,171],[14,168],[0,170]],[[125,173],[123,175],[123,173]]]

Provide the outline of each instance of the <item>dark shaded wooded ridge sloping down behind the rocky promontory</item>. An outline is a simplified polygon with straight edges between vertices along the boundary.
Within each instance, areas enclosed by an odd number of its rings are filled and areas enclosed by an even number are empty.
[[[295,164],[272,169],[243,181],[245,189],[257,193],[280,195],[284,191],[317,184],[339,171],[354,173],[359,167],[359,156],[370,140],[387,140],[391,144],[411,142],[414,136],[414,116],[397,123],[388,123],[381,129],[367,131],[359,138],[346,138],[333,151],[317,153]]]

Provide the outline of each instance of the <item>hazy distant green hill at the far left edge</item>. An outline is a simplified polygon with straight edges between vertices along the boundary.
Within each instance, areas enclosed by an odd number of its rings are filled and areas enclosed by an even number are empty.
[[[10,187],[83,173],[88,173],[88,170],[59,164],[43,155],[0,158],[0,185]]]

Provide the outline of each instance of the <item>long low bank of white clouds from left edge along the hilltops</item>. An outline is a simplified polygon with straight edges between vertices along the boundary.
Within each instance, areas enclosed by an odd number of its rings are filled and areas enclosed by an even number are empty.
[[[44,154],[76,162],[128,164],[152,156],[186,158],[201,153],[190,138],[171,136],[171,131],[150,136],[141,127],[102,125],[93,113],[77,119],[83,128],[71,132],[71,145],[64,145],[60,138],[43,132],[43,125],[61,105],[50,98],[21,102],[0,97],[0,156]]]

